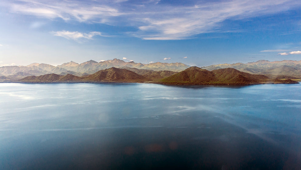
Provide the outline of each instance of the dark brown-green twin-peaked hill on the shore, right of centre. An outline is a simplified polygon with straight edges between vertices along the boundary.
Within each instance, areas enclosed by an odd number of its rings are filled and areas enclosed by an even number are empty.
[[[265,75],[252,75],[234,68],[208,71],[196,66],[190,67],[168,78],[160,80],[162,84],[178,85],[216,85],[216,84],[262,84],[262,83],[298,83],[292,80],[271,79]]]

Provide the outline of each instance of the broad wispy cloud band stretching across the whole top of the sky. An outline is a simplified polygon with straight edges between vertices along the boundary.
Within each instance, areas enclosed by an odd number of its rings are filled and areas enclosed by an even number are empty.
[[[6,1],[5,5],[11,12],[49,19],[134,26],[138,31],[129,34],[145,40],[181,40],[200,33],[224,31],[221,23],[227,19],[275,14],[301,4],[297,0],[194,1],[181,6],[159,0],[15,0]]]

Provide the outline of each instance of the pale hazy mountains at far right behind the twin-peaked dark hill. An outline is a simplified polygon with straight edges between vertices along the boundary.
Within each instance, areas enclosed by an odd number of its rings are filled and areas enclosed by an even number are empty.
[[[285,67],[287,66],[287,67]],[[277,76],[292,76],[301,78],[301,60],[283,60],[283,61],[267,61],[259,60],[249,63],[235,63],[235,64],[216,64],[207,67],[201,67],[203,69],[212,71],[220,68],[235,68],[239,71],[251,73],[251,74],[268,74]]]

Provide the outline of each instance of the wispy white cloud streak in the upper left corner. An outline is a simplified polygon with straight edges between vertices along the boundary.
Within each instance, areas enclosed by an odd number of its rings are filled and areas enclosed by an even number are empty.
[[[29,1],[19,0],[21,3],[10,3],[12,12],[23,13],[45,17],[49,19],[62,18],[65,21],[75,19],[79,22],[93,22],[97,20],[102,22],[103,19],[111,16],[122,15],[118,9],[106,4],[74,1]],[[94,21],[95,22],[95,21]]]

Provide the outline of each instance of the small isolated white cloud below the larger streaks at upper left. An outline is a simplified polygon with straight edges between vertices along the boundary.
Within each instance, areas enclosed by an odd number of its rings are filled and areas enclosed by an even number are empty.
[[[74,31],[74,32],[71,32],[71,31],[57,31],[57,32],[54,32],[52,31],[51,33],[53,33],[55,36],[61,36],[61,37],[64,37],[68,40],[75,40],[75,41],[78,41],[78,40],[81,40],[81,39],[89,39],[89,40],[92,40],[92,37],[95,36],[95,35],[99,35],[99,36],[103,36],[101,34],[101,32],[97,32],[97,31],[93,31],[93,32],[90,32],[90,33],[81,33],[81,32],[78,32],[78,31]]]

